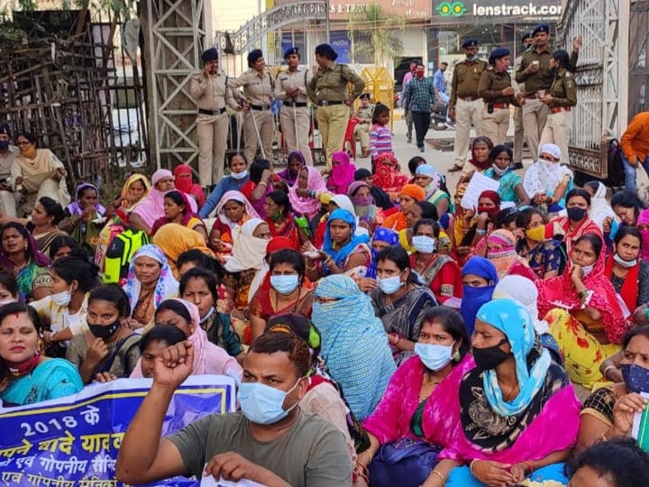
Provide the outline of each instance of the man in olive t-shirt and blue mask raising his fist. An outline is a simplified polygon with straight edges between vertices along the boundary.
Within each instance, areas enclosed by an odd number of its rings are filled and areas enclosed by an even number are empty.
[[[216,480],[247,479],[269,487],[352,485],[343,434],[299,409],[310,354],[297,335],[271,332],[252,344],[237,395],[241,411],[206,415],[160,438],[173,392],[192,372],[193,355],[192,345],[182,342],[156,359],[151,391],[123,437],[120,481],[211,474]]]

